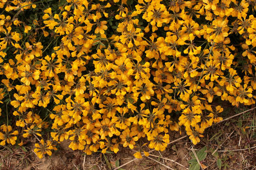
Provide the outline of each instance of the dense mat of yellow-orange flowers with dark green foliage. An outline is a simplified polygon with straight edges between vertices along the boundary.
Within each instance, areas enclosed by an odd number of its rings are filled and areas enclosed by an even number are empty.
[[[255,0],[0,0],[0,9],[0,145],[37,137],[42,158],[69,139],[87,154],[122,145],[140,158],[145,145],[165,150],[172,130],[200,142],[222,120],[221,101],[255,104]]]

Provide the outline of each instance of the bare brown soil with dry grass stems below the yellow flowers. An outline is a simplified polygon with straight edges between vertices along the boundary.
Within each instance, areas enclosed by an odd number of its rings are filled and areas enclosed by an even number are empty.
[[[227,118],[238,111],[240,110],[227,108],[222,116]],[[197,145],[193,145],[190,139],[185,137],[168,145],[164,152],[152,152],[155,157],[136,159],[119,170],[187,170],[193,151],[198,153],[205,146],[207,155],[200,161],[203,170],[256,170],[255,117],[256,110],[252,110],[213,125],[206,129],[204,137]],[[170,136],[172,141],[185,134],[172,132]],[[30,139],[22,147],[0,146],[0,170],[113,170],[134,159],[134,151],[123,147],[120,147],[117,154],[106,153],[104,156],[99,152],[84,156],[82,152],[68,148],[68,140],[61,143],[52,156],[39,159],[33,152],[36,142],[35,139]],[[217,151],[213,156],[215,150]],[[217,164],[217,161],[220,163]]]

